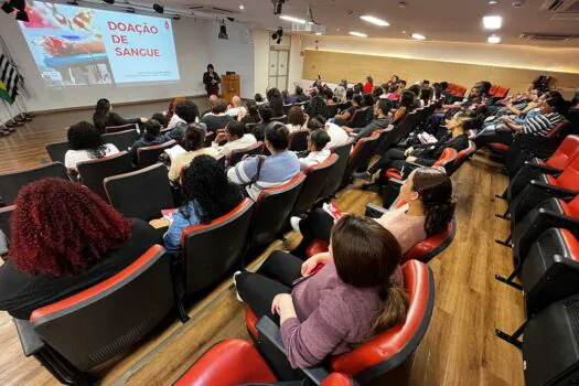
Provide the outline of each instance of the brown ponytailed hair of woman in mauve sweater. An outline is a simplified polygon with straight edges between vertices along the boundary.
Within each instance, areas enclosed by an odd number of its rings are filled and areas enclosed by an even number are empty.
[[[377,288],[380,308],[366,339],[406,319],[408,296],[390,281],[398,268],[398,240],[374,219],[345,215],[332,229],[332,255],[340,279],[356,288]]]

